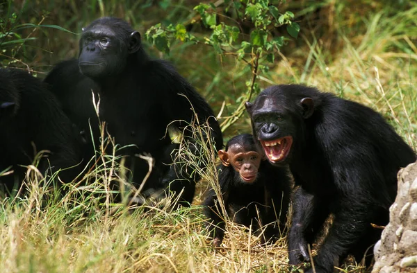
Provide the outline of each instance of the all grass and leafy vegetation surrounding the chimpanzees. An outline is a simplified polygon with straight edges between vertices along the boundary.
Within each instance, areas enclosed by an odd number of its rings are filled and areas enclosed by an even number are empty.
[[[104,15],[129,21],[152,55],[178,67],[218,114],[225,141],[250,132],[246,100],[268,85],[303,83],[376,109],[417,150],[415,1],[8,0],[0,65],[43,78],[77,55],[81,27]],[[206,164],[196,205],[215,184],[215,162]],[[214,250],[199,206],[115,210],[102,183],[111,171],[92,171],[91,186],[69,186],[63,199],[33,179],[28,197],[1,201],[1,271],[289,271],[285,238],[263,247],[229,224]],[[342,272],[366,271],[347,264]]]

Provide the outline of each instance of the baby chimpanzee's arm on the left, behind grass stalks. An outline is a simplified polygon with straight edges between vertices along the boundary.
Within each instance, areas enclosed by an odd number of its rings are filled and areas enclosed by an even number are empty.
[[[219,184],[220,191],[222,193],[224,207],[229,206],[229,193],[231,191],[231,184],[234,179],[234,170],[232,167],[220,166],[219,172]],[[220,209],[220,204],[217,195],[213,188],[210,189],[206,199],[203,202],[203,213],[208,218],[206,226],[210,231],[211,238],[213,238],[213,245],[220,246],[224,238],[224,216]]]

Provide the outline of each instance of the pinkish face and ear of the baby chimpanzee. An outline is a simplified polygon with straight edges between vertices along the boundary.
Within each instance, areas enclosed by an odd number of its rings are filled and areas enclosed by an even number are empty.
[[[256,181],[258,169],[261,165],[261,155],[254,150],[245,150],[240,144],[229,146],[227,151],[220,150],[219,158],[224,166],[234,168],[240,175],[240,180],[244,183]]]

